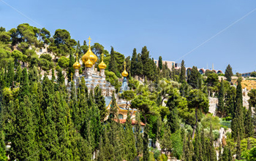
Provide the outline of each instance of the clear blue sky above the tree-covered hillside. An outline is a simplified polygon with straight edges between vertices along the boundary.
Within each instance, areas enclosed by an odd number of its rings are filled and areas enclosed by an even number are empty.
[[[20,23],[52,35],[66,29],[81,44],[91,36],[92,43],[125,56],[146,45],[154,59],[184,59],[187,67],[214,63],[225,71],[230,63],[234,73],[256,70],[255,0],[0,0],[0,26]]]

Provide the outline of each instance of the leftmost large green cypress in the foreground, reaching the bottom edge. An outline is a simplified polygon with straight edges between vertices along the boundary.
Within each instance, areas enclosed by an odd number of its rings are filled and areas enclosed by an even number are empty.
[[[35,141],[35,127],[33,125],[29,97],[24,97],[24,102],[15,101],[16,119],[15,130],[12,133],[12,144],[10,147],[11,160],[39,160],[37,154],[37,142]]]

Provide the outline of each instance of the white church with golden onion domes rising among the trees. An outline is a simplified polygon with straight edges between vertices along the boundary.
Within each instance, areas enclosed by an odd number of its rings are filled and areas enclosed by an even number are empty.
[[[94,88],[99,86],[99,88],[102,90],[102,95],[105,97],[105,103],[107,106],[107,109],[110,109],[111,100],[112,100],[112,94],[115,93],[117,101],[116,105],[118,107],[118,118],[120,120],[127,119],[127,110],[129,109],[129,106],[127,107],[127,104],[125,101],[118,98],[118,94],[116,94],[116,89],[113,85],[110,84],[110,82],[106,81],[105,79],[105,68],[107,68],[107,65],[104,63],[103,60],[103,54],[102,54],[102,62],[99,63],[99,71],[97,71],[97,62],[98,58],[97,55],[94,54],[94,52],[91,51],[91,38],[89,37],[89,50],[86,52],[85,55],[82,57],[82,61],[85,65],[85,70],[83,71],[83,74],[79,74],[79,69],[81,67],[78,55],[76,57],[76,61],[73,65],[73,68],[75,68],[75,74],[73,74],[72,79],[75,82],[75,86],[79,87],[80,79],[85,79],[86,81],[86,87],[88,87],[88,90],[94,91]],[[121,73],[123,76],[123,82],[121,85],[120,93],[123,93],[126,90],[129,90],[128,84],[127,84],[127,76],[128,72],[126,71],[126,63],[124,62],[124,71]],[[70,83],[67,85],[67,88],[70,88]],[[129,109],[130,110],[130,109]],[[132,111],[132,119],[135,119],[136,110]],[[107,119],[107,118],[106,118]]]

